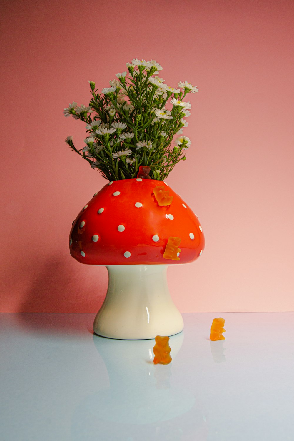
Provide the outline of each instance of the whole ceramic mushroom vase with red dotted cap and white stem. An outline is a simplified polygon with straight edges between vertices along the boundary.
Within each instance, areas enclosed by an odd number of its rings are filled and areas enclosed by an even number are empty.
[[[107,294],[93,325],[96,334],[143,340],[182,331],[167,266],[196,260],[205,240],[198,217],[164,181],[106,184],[78,213],[69,246],[78,262],[108,270]]]

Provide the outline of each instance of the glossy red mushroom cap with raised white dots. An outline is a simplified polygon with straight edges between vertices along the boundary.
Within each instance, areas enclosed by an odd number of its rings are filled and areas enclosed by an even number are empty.
[[[162,185],[173,197],[170,205],[160,206],[153,194]],[[163,257],[169,238],[181,239],[179,260]],[[175,265],[193,262],[205,246],[198,217],[153,179],[106,184],[78,213],[69,239],[71,256],[90,265]]]

